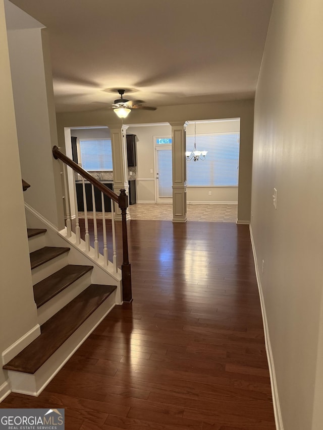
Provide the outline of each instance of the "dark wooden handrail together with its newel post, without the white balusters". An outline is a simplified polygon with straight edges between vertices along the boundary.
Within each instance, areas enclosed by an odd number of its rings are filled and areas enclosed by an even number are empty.
[[[63,163],[70,166],[73,170],[78,172],[81,176],[87,179],[94,187],[100,190],[110,199],[118,203],[121,209],[121,220],[122,220],[122,248],[123,248],[123,263],[121,266],[122,271],[122,285],[123,285],[123,300],[131,302],[132,301],[132,289],[131,289],[131,264],[128,258],[128,235],[127,235],[127,208],[128,208],[128,196],[126,190],[120,190],[120,195],[111,191],[109,188],[105,187],[99,180],[95,179],[89,172],[82,169],[77,163],[67,157],[63,152],[59,150],[57,146],[53,146],[52,155],[57,160],[60,159]]]

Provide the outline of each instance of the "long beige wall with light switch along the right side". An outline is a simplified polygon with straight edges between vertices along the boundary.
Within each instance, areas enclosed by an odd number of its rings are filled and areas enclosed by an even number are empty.
[[[251,225],[284,430],[323,426],[322,17],[320,0],[275,1],[255,100]]]

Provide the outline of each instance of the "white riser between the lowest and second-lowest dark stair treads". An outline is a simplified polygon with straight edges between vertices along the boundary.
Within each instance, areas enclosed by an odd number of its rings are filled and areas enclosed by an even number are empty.
[[[69,285],[55,297],[40,306],[40,308],[37,309],[38,324],[42,325],[45,321],[49,320],[49,318],[64,308],[67,303],[84,291],[90,284],[91,271],[81,276],[81,278],[77,279],[73,284]]]

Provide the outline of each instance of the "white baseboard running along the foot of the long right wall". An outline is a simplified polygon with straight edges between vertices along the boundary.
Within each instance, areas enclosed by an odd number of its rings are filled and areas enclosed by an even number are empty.
[[[273,357],[273,351],[272,351],[271,341],[270,341],[270,336],[269,336],[267,316],[266,316],[266,308],[265,308],[265,303],[264,303],[264,299],[263,299],[262,286],[261,286],[261,280],[260,280],[260,272],[259,272],[259,268],[258,268],[257,254],[256,254],[256,250],[255,250],[255,245],[254,245],[251,224],[249,225],[249,229],[250,229],[250,238],[251,238],[251,244],[252,244],[254,266],[255,266],[256,278],[257,278],[257,284],[258,284],[258,290],[259,290],[259,296],[260,296],[260,306],[261,306],[261,314],[262,314],[264,340],[265,340],[265,346],[266,346],[266,354],[267,354],[267,360],[268,360],[269,373],[270,373],[270,378],[271,378],[271,387],[272,387],[273,407],[274,407],[274,414],[275,414],[276,429],[277,430],[284,430],[282,412],[281,412],[281,408],[280,408],[280,404],[279,404],[279,397],[278,397],[278,388],[277,388],[277,380],[276,380],[276,373],[275,373],[274,357]]]

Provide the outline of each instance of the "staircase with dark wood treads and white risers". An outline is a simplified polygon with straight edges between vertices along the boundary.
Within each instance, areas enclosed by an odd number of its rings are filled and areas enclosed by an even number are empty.
[[[44,228],[28,229],[41,334],[4,365],[12,391],[33,396],[116,304],[115,285],[91,283],[93,266],[69,264],[70,248],[47,246],[46,236]]]

